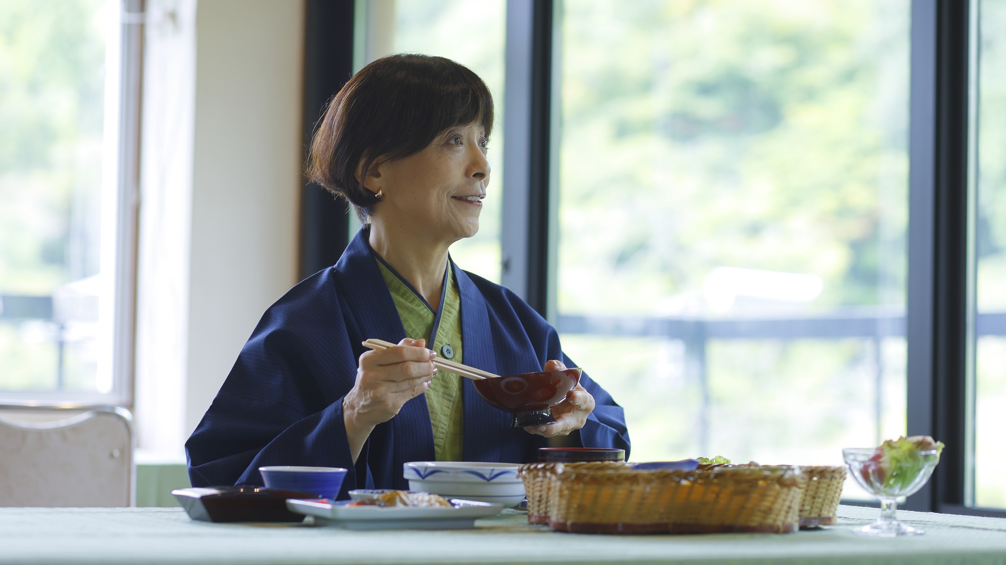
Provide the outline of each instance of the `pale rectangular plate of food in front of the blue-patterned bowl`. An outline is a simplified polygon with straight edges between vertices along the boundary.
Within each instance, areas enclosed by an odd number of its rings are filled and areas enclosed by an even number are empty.
[[[475,528],[475,519],[496,516],[503,505],[453,500],[454,508],[350,506],[349,501],[288,499],[291,512],[313,516],[315,524],[347,530],[459,530]]]

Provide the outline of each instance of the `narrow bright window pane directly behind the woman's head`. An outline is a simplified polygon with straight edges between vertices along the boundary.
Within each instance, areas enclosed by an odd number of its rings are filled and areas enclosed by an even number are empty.
[[[357,67],[389,53],[439,55],[471,68],[493,93],[496,116],[489,143],[492,173],[479,233],[455,243],[451,255],[461,268],[499,282],[506,1],[357,1],[356,8],[358,21],[365,22],[365,31],[355,48]]]

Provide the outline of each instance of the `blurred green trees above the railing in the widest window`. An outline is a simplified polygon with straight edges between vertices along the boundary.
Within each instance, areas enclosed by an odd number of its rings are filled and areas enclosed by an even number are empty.
[[[817,274],[821,307],[903,304],[907,1],[562,18],[560,272],[591,284],[560,281],[561,310],[646,312],[720,265]]]

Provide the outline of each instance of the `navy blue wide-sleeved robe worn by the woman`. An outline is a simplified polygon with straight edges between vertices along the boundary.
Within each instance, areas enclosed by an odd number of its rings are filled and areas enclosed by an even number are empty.
[[[185,443],[193,487],[262,485],[263,465],[349,469],[339,498],[352,489],[407,489],[402,463],[435,460],[426,399],[406,402],[377,425],[354,464],[342,398],[356,380],[366,339],[405,337],[394,301],[360,230],[335,266],[306,278],[266,311],[233,369]],[[458,268],[465,364],[499,375],[540,371],[545,361],[573,363],[558,334],[507,289]],[[510,427],[463,379],[466,460],[528,462],[546,445],[540,435]],[[597,406],[579,438],[588,447],[620,447],[628,458],[622,407],[588,377],[580,384]]]

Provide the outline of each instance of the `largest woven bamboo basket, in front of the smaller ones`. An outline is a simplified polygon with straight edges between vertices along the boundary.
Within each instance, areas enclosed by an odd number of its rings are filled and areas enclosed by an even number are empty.
[[[554,469],[548,525],[600,534],[792,533],[803,474],[792,466],[693,472]]]

